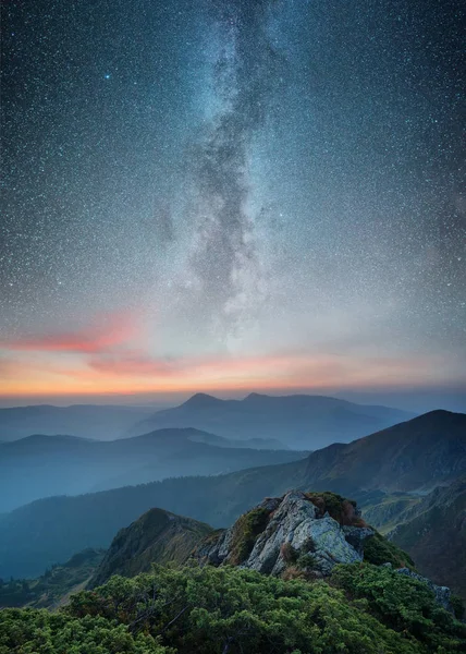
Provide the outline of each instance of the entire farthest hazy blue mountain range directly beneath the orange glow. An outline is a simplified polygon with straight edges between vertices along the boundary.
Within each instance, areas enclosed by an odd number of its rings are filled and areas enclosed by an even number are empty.
[[[364,405],[322,396],[266,396],[221,400],[196,393],[172,409],[154,407],[48,404],[0,409],[0,443],[32,434],[70,434],[114,440],[156,429],[195,427],[257,449],[317,449],[352,440],[413,417],[389,407]]]

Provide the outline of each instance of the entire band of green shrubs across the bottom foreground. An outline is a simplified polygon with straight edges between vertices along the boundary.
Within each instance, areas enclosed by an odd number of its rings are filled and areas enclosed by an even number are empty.
[[[420,582],[369,564],[329,582],[237,568],[155,568],[56,614],[0,611],[0,654],[450,654],[464,625]]]

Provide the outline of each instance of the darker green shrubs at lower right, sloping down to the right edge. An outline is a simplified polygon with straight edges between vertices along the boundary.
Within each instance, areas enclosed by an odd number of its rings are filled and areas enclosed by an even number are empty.
[[[436,603],[427,584],[370,564],[335,566],[332,583],[353,600],[364,598],[375,617],[387,627],[418,640],[426,651],[465,651],[466,628]]]

